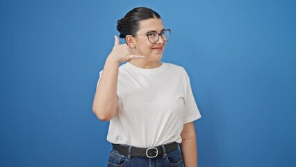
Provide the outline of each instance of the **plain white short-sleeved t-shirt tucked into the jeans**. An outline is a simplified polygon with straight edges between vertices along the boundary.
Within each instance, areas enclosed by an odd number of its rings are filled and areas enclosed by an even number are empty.
[[[142,69],[125,63],[119,70],[117,112],[107,140],[138,148],[181,143],[183,124],[200,117],[183,67],[163,63]]]

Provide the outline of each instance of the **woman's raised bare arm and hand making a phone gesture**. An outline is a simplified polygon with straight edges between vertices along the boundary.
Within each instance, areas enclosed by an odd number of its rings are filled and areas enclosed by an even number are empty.
[[[126,44],[120,45],[120,40],[115,36],[114,47],[106,59],[92,104],[92,111],[100,120],[110,120],[115,116],[119,66],[120,63],[133,58],[145,58],[145,56],[133,55],[131,48]]]

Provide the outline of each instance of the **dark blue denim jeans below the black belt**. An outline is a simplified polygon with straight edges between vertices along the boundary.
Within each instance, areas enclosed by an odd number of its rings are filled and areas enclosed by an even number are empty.
[[[183,167],[183,158],[179,149],[151,159],[124,156],[117,150],[112,150],[108,167]]]

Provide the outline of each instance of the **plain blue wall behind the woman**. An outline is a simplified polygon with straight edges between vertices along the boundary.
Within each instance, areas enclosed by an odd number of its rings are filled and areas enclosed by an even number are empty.
[[[156,10],[190,75],[199,166],[295,166],[296,1],[0,2],[0,166],[106,166],[92,100],[117,19]],[[123,42],[123,41],[121,41]]]

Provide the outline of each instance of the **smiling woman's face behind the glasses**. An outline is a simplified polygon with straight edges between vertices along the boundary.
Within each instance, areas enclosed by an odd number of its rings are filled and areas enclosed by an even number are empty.
[[[146,56],[148,61],[161,61],[166,42],[160,36],[158,42],[151,44],[145,33],[150,31],[161,33],[164,30],[163,22],[161,19],[156,18],[145,19],[139,22],[139,27],[140,29],[133,41],[135,46],[133,48],[134,54]]]

